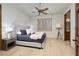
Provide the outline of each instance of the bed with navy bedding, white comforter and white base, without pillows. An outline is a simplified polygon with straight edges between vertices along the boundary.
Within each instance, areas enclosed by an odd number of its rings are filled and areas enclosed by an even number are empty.
[[[17,34],[16,44],[43,49],[46,42],[46,33],[42,33],[41,35],[39,33],[33,33],[30,35]]]

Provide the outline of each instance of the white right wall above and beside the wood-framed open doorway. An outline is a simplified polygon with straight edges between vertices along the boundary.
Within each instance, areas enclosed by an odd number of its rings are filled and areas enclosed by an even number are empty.
[[[73,39],[75,39],[75,4],[71,4],[71,6],[69,8],[67,8],[64,12],[64,14],[68,11],[71,10],[71,46],[75,47],[75,42],[73,41]],[[63,14],[63,15],[64,15]]]

